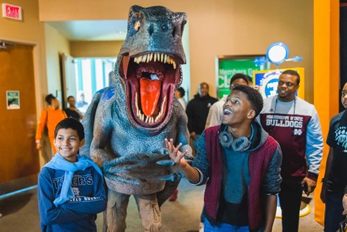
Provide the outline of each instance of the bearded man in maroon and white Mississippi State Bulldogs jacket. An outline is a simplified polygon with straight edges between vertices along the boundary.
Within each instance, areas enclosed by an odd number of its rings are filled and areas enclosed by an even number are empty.
[[[323,136],[316,108],[296,97],[300,76],[286,70],[278,80],[278,95],[264,99],[260,122],[282,149],[280,207],[282,231],[298,231],[301,195],[316,187],[323,155]],[[307,172],[308,165],[308,172]]]

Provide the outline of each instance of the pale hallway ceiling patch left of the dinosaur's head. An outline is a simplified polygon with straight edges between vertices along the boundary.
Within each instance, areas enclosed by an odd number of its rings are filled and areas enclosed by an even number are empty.
[[[126,20],[81,20],[47,22],[68,40],[108,41],[125,40]]]

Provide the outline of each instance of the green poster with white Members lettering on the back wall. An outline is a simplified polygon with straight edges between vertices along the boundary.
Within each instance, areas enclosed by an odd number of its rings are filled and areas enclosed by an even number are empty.
[[[219,56],[216,62],[217,97],[221,99],[224,94],[230,94],[230,78],[237,73],[253,76],[254,71],[268,69],[266,63],[257,63],[256,60],[265,60],[265,55],[251,56]]]

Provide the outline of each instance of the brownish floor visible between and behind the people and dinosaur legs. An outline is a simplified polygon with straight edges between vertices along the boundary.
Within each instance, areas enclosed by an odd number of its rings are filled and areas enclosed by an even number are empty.
[[[178,189],[178,200],[167,201],[162,206],[163,229],[165,232],[197,232],[203,205],[203,187],[190,185],[186,179],[183,179]],[[301,217],[299,231],[323,231],[323,227],[313,219],[313,210],[314,206],[312,206],[310,214]],[[0,213],[2,214],[0,217],[1,232],[40,231],[36,188],[1,199]],[[99,214],[96,219],[98,231],[102,229],[102,222],[102,214]],[[126,231],[143,231],[133,197],[130,198],[126,222]],[[282,231],[280,219],[276,219],[273,231]]]

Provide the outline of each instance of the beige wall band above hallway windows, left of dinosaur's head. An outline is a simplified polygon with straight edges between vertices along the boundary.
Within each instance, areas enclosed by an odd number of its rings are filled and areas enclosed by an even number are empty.
[[[70,51],[73,57],[116,57],[122,41],[71,41]]]

